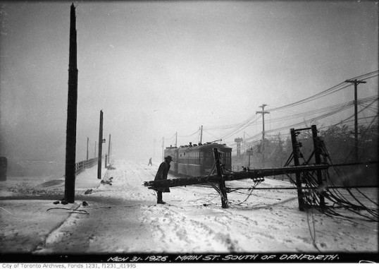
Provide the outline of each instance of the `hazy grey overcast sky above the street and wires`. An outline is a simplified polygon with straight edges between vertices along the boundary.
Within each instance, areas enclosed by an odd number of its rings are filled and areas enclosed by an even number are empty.
[[[70,4],[1,1],[1,155],[64,160]],[[375,1],[74,4],[77,161],[87,137],[91,150],[98,141],[100,109],[114,153],[148,160],[155,151],[160,160],[163,136],[165,146],[176,131],[179,145],[197,143],[190,135],[201,125],[238,124],[263,103],[280,107],[378,70]],[[360,98],[376,95],[378,79],[359,89]],[[350,100],[353,87],[287,113]]]

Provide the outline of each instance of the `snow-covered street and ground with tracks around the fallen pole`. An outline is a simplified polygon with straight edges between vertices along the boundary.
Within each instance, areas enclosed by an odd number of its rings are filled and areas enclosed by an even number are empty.
[[[249,191],[235,191],[223,209],[214,189],[183,186],[163,193],[167,204],[157,205],[154,191],[143,186],[157,165],[116,160],[115,169],[103,169],[111,184],[100,184],[96,167],[87,169],[77,176],[75,203],[68,205],[53,204],[63,197],[63,179],[0,182],[1,253],[378,251],[378,222],[301,212],[295,190],[255,190],[247,201]],[[263,186],[292,185],[265,179]]]

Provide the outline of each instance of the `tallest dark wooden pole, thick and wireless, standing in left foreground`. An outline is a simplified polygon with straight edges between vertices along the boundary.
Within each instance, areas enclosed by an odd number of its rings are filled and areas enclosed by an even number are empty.
[[[65,196],[68,203],[75,202],[75,147],[77,117],[77,61],[76,61],[76,18],[75,6],[70,12],[70,54],[68,60],[68,108],[66,126],[66,173]]]

